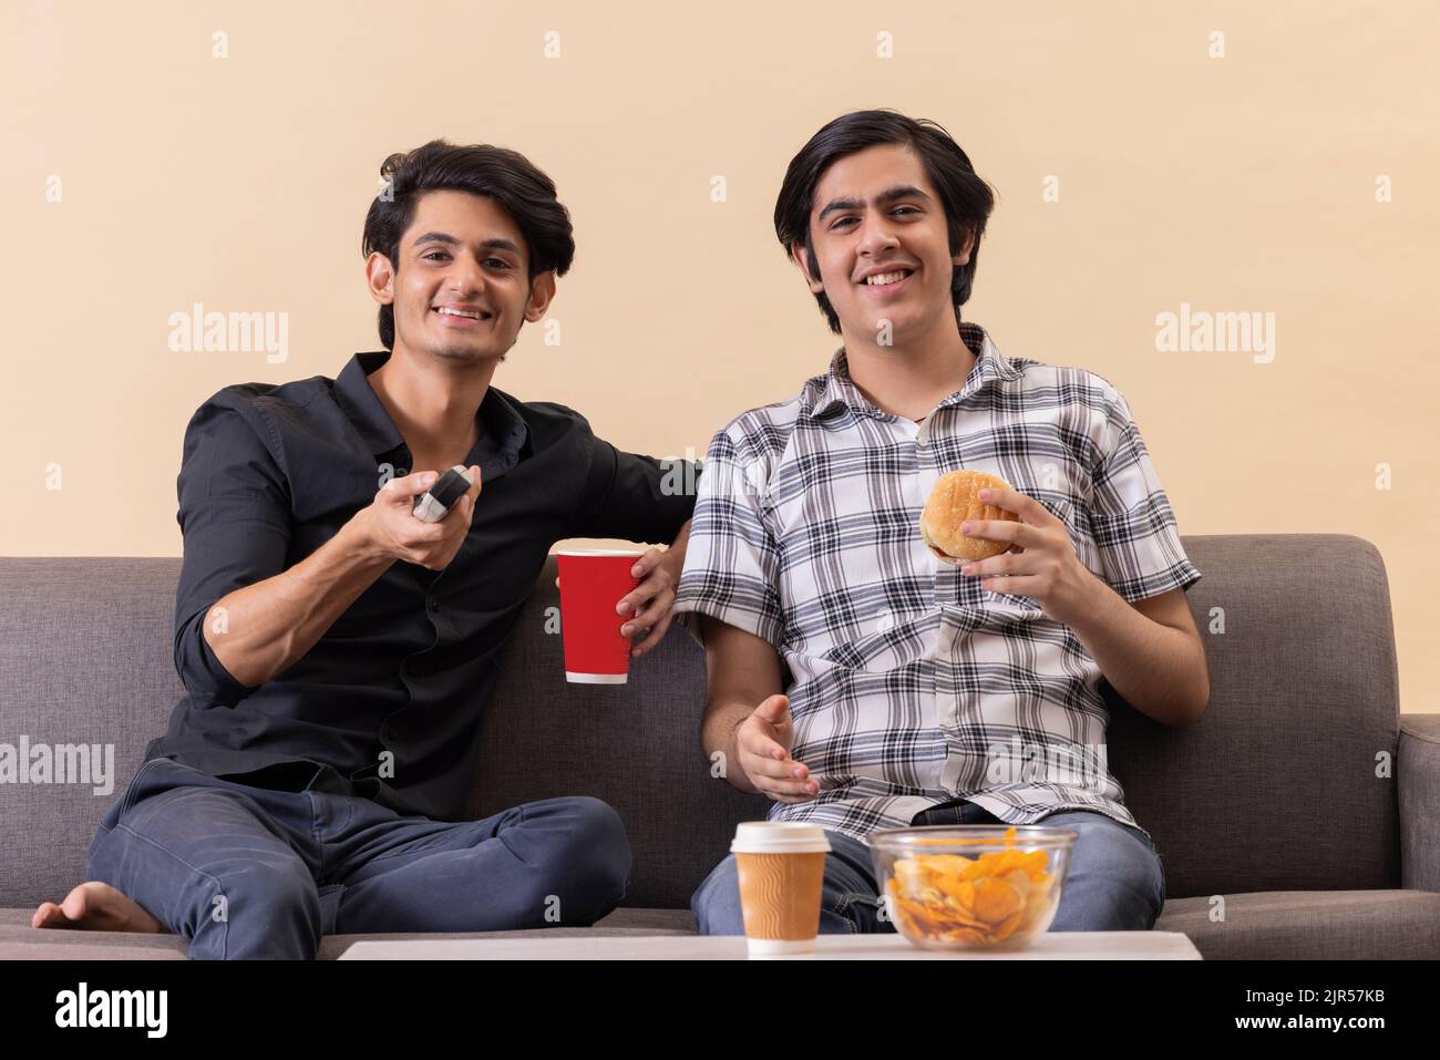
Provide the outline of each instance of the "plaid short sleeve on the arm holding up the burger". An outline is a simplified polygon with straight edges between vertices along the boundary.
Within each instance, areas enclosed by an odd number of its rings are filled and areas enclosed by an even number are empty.
[[[1109,387],[1102,461],[1092,475],[1090,526],[1106,582],[1126,602],[1200,580],[1125,396]]]

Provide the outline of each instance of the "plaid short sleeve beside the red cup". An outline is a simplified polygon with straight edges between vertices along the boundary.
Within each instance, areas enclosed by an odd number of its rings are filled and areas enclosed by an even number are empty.
[[[697,639],[684,615],[708,615],[782,651],[780,552],[762,517],[759,465],[746,455],[732,428],[710,442],[674,612]]]

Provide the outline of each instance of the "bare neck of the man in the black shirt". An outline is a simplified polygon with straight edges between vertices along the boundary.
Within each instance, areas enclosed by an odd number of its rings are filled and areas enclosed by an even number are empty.
[[[412,455],[464,458],[478,441],[475,415],[494,374],[491,359],[469,363],[416,354],[396,338],[395,351],[369,380]]]

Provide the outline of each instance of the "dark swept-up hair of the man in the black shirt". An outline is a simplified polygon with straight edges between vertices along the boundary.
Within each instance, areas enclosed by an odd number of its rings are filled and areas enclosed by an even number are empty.
[[[380,166],[386,187],[364,217],[360,251],[379,251],[396,264],[400,236],[415,220],[415,205],[426,192],[469,192],[490,196],[520,228],[530,259],[530,279],[553,271],[563,277],[575,259],[570,213],[554,197],[554,181],[508,147],[458,147],[432,140],[413,151],[392,154]],[[396,266],[397,268],[397,266]],[[395,349],[395,307],[380,307],[380,341]]]

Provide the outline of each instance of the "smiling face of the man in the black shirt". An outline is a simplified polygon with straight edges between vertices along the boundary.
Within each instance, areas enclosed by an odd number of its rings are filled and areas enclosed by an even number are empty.
[[[503,360],[520,325],[554,297],[554,274],[528,278],[520,228],[492,199],[426,192],[390,262],[366,262],[370,292],[395,307],[395,351],[444,360]]]

